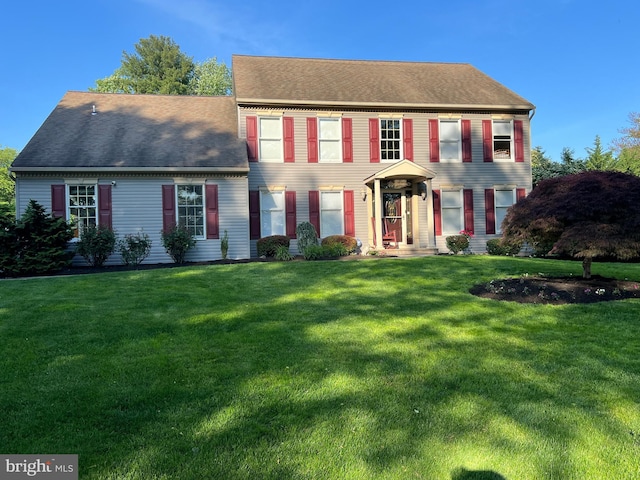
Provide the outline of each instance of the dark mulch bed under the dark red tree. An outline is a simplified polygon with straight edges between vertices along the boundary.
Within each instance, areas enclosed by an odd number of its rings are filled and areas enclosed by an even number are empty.
[[[593,275],[505,278],[475,285],[469,293],[493,300],[562,305],[640,298],[640,282]]]

